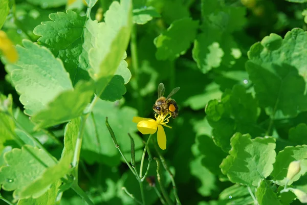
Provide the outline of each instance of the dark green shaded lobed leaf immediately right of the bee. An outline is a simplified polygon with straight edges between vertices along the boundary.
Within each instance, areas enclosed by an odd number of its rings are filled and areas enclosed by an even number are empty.
[[[226,89],[221,100],[210,100],[205,108],[207,120],[213,128],[214,143],[225,152],[230,150],[229,140],[235,132],[260,135],[264,132],[256,124],[258,102],[243,85]]]

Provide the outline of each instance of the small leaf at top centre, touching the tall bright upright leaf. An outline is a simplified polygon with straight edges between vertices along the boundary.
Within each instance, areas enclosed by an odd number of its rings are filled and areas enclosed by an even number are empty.
[[[133,10],[133,22],[134,24],[147,24],[153,17],[161,17],[160,14],[153,7],[145,7]]]

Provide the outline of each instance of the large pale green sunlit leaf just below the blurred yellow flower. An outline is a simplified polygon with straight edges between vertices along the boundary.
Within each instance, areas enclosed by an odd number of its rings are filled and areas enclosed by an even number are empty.
[[[23,40],[17,45],[19,59],[13,66],[12,81],[27,115],[46,109],[47,104],[63,91],[73,86],[63,63],[45,47]]]

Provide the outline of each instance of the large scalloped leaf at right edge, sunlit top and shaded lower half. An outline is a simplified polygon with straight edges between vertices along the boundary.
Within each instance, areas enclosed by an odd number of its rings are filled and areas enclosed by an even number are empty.
[[[296,116],[305,110],[304,96],[307,58],[304,54],[307,33],[301,29],[289,31],[284,39],[271,34],[257,42],[248,52],[246,70],[255,84],[261,107],[271,113],[281,110],[285,116]]]

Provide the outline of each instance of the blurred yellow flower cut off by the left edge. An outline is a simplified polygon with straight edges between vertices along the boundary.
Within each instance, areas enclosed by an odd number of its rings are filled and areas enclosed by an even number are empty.
[[[18,59],[16,48],[12,41],[8,38],[4,31],[0,30],[0,51],[11,62],[14,63]]]

